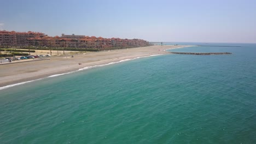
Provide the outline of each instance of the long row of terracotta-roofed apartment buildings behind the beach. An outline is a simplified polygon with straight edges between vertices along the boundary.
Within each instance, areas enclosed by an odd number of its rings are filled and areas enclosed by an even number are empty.
[[[120,39],[88,37],[85,35],[65,35],[50,37],[40,32],[0,31],[2,46],[48,46],[48,47],[85,47],[107,49],[114,47],[148,46],[149,42],[142,39]]]

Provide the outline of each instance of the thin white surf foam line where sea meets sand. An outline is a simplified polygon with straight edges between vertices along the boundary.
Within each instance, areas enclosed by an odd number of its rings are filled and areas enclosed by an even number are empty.
[[[123,59],[123,60],[118,61],[118,62],[110,62],[110,63],[107,63],[107,64],[99,64],[99,65],[84,67],[84,68],[78,69],[78,70],[76,70],[76,71],[86,70],[86,69],[91,69],[91,68],[96,68],[96,67],[103,67],[103,66],[105,66],[105,65],[110,65],[110,64],[116,64],[116,63],[131,61],[131,60],[138,59],[138,58],[146,58],[146,57],[160,56],[160,55],[162,55],[162,54],[159,54],[159,55],[150,55],[150,56],[143,56],[143,57],[135,57],[135,58],[131,58],[131,59]],[[71,72],[69,72],[69,73],[56,74],[56,75],[51,75],[51,76],[48,76],[48,77],[56,77],[56,76],[71,74],[71,73],[74,73],[74,72],[75,72],[75,71],[71,71]],[[42,80],[42,79],[37,79],[37,80]],[[13,84],[13,85],[8,85],[8,86],[0,87],[0,90],[5,89],[5,88],[14,87],[14,86],[19,86],[19,85],[22,85],[22,84],[24,84],[24,83],[33,82],[33,81],[37,81],[37,80],[25,81],[25,82],[16,83],[16,84]]]

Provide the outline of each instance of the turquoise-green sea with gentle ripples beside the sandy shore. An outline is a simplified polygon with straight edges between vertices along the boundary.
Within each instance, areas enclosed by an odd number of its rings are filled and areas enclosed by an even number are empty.
[[[0,143],[256,143],[256,44],[203,45],[1,89]]]

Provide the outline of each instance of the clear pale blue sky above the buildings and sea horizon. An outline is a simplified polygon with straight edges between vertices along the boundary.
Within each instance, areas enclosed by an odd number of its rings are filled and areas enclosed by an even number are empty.
[[[255,0],[0,0],[0,29],[147,41],[256,43]]]

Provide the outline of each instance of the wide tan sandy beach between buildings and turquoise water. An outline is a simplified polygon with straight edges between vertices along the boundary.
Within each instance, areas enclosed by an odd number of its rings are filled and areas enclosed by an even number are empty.
[[[48,57],[44,60],[36,61],[15,61],[9,64],[0,64],[0,87],[13,85],[15,83],[42,79],[56,74],[68,73],[85,67],[94,65],[119,62],[124,59],[146,57],[151,55],[168,54],[165,50],[188,47],[177,46],[147,46],[132,49],[121,49],[112,51],[90,52],[79,55]],[[170,54],[170,53],[169,53]],[[79,64],[80,63],[80,64]]]

